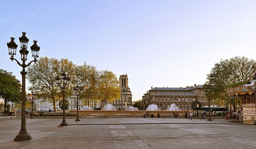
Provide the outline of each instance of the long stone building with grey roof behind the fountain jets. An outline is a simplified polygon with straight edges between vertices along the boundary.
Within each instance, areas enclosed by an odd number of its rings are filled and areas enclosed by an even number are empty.
[[[208,106],[207,96],[203,85],[187,86],[186,88],[153,88],[142,96],[143,107],[147,108],[149,104],[156,104],[162,110],[169,109],[172,103],[182,109],[192,109],[191,103],[199,101],[201,106]],[[210,105],[213,103],[211,102]]]

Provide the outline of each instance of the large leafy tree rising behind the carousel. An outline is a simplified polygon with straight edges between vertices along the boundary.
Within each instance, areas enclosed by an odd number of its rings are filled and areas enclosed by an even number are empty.
[[[218,103],[226,99],[226,89],[229,84],[240,84],[252,78],[256,71],[256,61],[246,57],[233,57],[220,60],[214,64],[210,74],[207,75],[207,82],[215,91],[215,101]],[[242,85],[242,84],[241,84]],[[215,102],[215,103],[216,103]]]

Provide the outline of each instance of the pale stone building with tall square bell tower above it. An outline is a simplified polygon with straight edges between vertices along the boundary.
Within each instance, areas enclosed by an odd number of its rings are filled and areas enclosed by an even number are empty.
[[[128,86],[128,76],[120,75],[119,77],[119,88],[121,90],[121,97],[116,99],[112,104],[116,109],[126,109],[126,107],[132,106],[132,92]]]

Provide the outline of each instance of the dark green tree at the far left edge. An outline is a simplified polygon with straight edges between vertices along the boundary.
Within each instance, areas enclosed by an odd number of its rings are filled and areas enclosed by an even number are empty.
[[[0,97],[4,99],[4,107],[7,102],[21,102],[21,84],[12,72],[0,69]]]

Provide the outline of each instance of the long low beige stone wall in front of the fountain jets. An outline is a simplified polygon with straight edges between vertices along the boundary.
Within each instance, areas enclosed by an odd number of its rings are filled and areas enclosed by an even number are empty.
[[[144,111],[118,111],[118,110],[79,110],[79,116],[82,117],[104,117],[105,115],[107,117],[143,117]],[[175,114],[179,114],[180,116],[185,116],[185,111],[145,111],[149,113],[149,116],[151,114],[154,114],[154,117],[157,117],[157,113],[160,114],[160,117],[173,117],[173,112]],[[190,111],[187,111],[188,113]],[[192,111],[194,113],[194,111]],[[76,113],[76,110],[69,110],[69,113]],[[193,114],[194,116],[195,113]]]

